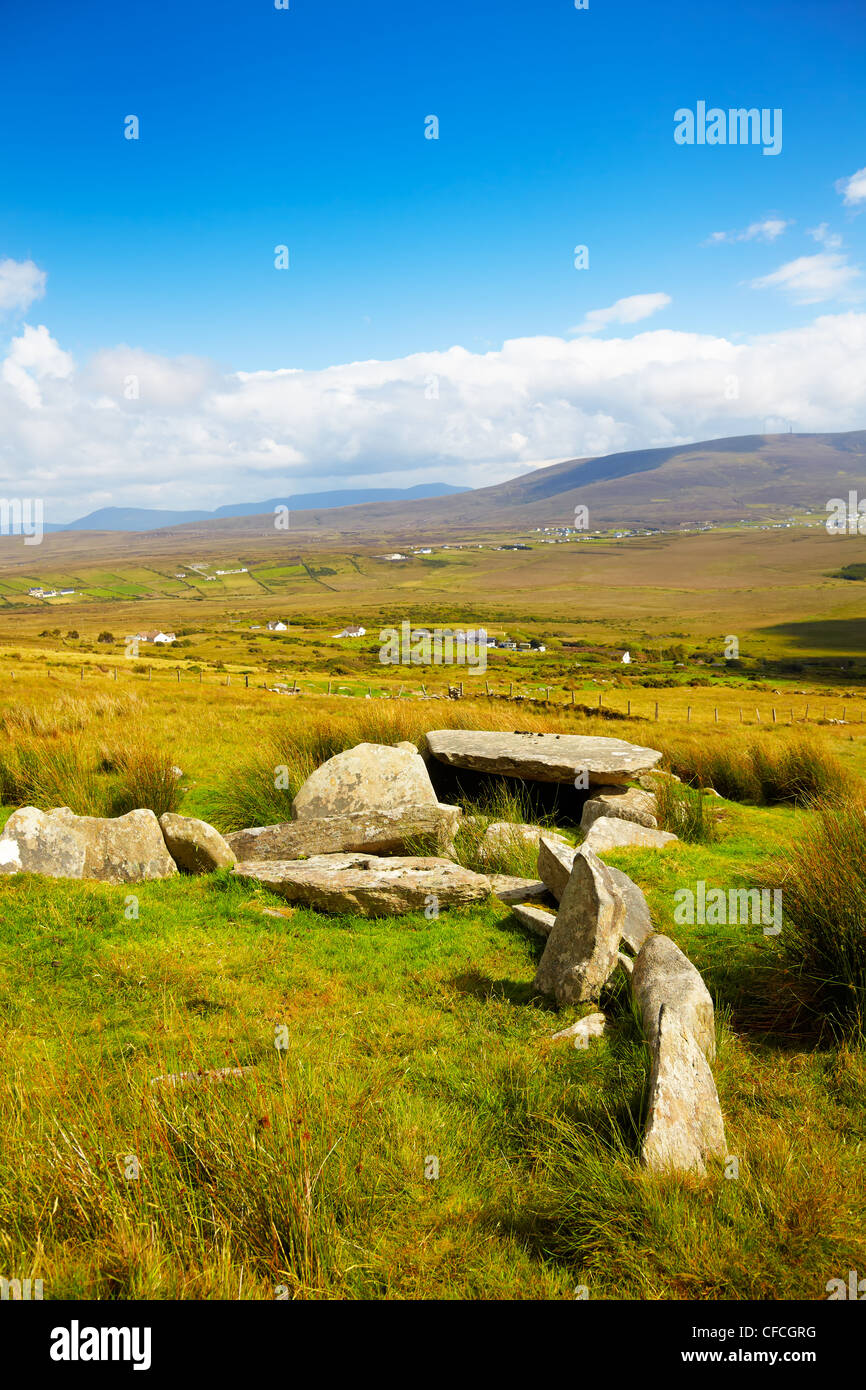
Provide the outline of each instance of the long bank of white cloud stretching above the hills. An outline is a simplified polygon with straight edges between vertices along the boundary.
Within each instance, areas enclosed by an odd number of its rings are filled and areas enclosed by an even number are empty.
[[[122,386],[131,363],[135,402]],[[26,328],[0,368],[0,495],[40,496],[60,521],[106,505],[482,486],[545,459],[760,434],[767,417],[863,427],[866,313],[737,342],[676,329],[518,338],[482,353],[232,374],[128,348],[75,370],[46,328]]]

